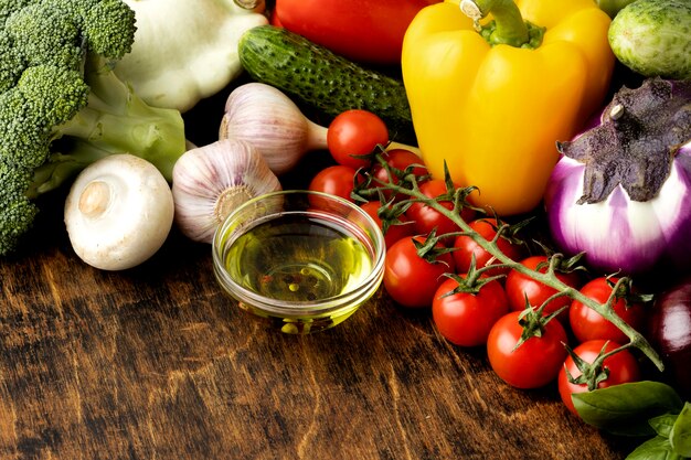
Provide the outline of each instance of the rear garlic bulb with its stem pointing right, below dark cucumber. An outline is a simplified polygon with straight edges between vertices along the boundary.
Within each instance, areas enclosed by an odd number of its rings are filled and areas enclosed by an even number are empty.
[[[308,151],[327,149],[327,128],[309,120],[280,89],[258,82],[228,95],[219,138],[251,142],[278,175]]]

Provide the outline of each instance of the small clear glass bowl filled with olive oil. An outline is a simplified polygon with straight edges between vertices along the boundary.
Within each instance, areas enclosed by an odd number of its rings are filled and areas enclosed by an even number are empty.
[[[240,309],[285,333],[332,328],[379,289],[384,236],[357,204],[321,192],[254,197],[219,226],[214,275]]]

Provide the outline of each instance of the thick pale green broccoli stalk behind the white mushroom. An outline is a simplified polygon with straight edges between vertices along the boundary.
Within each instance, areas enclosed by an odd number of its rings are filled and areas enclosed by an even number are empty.
[[[30,199],[72,180],[94,161],[128,152],[153,163],[171,182],[172,169],[185,149],[180,111],[146,104],[121,82],[107,61],[86,63],[88,103],[67,122],[53,128],[51,153],[34,170]]]

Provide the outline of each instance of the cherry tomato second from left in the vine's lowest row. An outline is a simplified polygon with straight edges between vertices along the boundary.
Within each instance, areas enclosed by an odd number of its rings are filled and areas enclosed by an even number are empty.
[[[501,284],[491,280],[477,293],[446,293],[458,287],[458,281],[447,278],[437,288],[432,301],[432,318],[446,340],[460,346],[478,346],[487,343],[492,325],[509,311],[507,296]]]

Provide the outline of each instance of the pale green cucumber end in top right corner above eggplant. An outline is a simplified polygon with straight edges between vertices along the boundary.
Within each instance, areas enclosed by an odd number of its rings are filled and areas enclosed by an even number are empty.
[[[691,78],[691,1],[636,0],[609,26],[615,56],[646,77]]]

